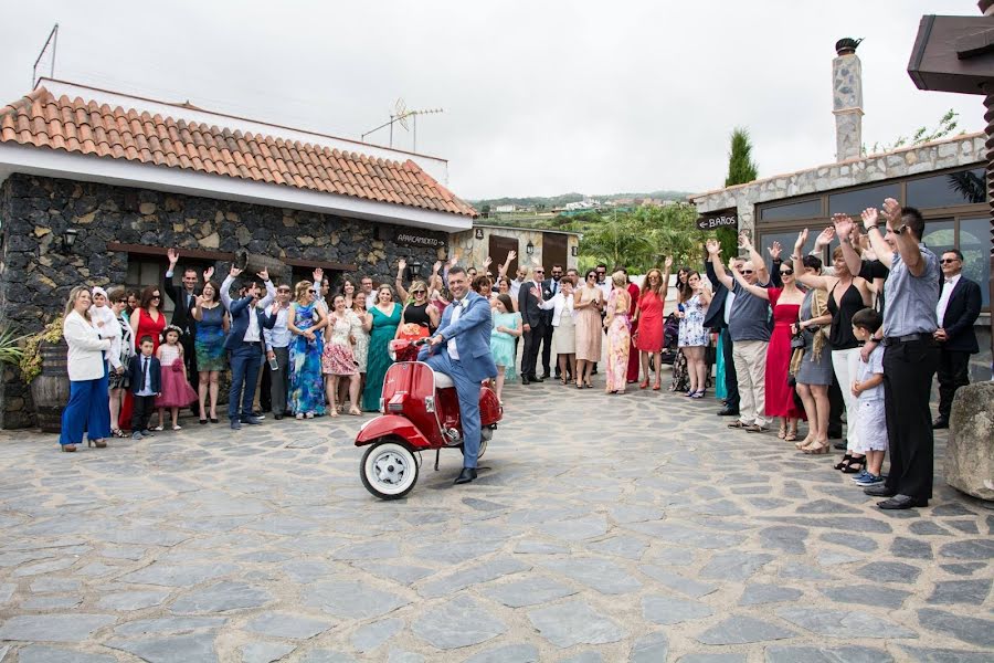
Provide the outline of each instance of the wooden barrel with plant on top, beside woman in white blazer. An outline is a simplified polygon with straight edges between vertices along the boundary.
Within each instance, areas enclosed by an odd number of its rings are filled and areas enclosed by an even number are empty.
[[[62,322],[60,315],[38,334],[23,337],[23,354],[18,362],[24,382],[31,387],[38,425],[46,433],[62,430],[62,410],[70,396],[68,348],[62,338]]]

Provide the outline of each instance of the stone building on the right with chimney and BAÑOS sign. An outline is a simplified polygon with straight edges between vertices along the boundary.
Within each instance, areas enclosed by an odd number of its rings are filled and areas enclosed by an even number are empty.
[[[797,233],[813,232],[811,250],[832,215],[842,212],[858,218],[868,207],[881,207],[885,198],[916,207],[926,218],[924,242],[935,252],[959,249],[964,255],[963,274],[981,284],[983,309],[976,322],[982,351],[971,365],[973,378],[991,377],[991,276],[990,208],[984,167],[983,134],[967,134],[885,154],[863,156],[861,66],[853,40],[836,44],[833,61],[836,117],[836,162],[768,177],[690,197],[701,223],[738,223],[753,243],[763,249],[779,241],[790,251]],[[823,260],[828,261],[833,243]],[[765,254],[765,252],[764,252]]]

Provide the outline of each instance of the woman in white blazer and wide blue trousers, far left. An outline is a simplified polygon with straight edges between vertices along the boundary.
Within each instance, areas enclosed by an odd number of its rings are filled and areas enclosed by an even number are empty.
[[[103,338],[91,317],[93,297],[89,290],[77,285],[65,303],[62,336],[68,345],[67,368],[70,402],[62,411],[62,451],[76,451],[83,443],[83,429],[91,446],[103,449],[110,436],[110,403],[107,394],[107,364],[104,352],[110,339]]]

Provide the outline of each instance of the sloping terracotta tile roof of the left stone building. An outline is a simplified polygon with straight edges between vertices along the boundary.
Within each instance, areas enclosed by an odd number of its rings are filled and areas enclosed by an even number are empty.
[[[389,161],[136,108],[112,109],[96,99],[56,99],[44,87],[0,107],[0,143],[476,215],[410,159]]]

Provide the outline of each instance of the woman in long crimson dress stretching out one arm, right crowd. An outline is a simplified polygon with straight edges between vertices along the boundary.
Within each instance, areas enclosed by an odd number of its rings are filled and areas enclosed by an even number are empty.
[[[738,271],[733,271],[739,284],[747,291],[769,299],[773,307],[773,334],[766,348],[766,415],[780,417],[781,440],[797,439],[797,420],[804,419],[804,410],[794,401],[794,388],[787,383],[791,368],[791,325],[797,323],[804,291],[797,287],[794,269],[790,263],[780,265],[780,277],[783,287],[760,287],[750,285]]]

